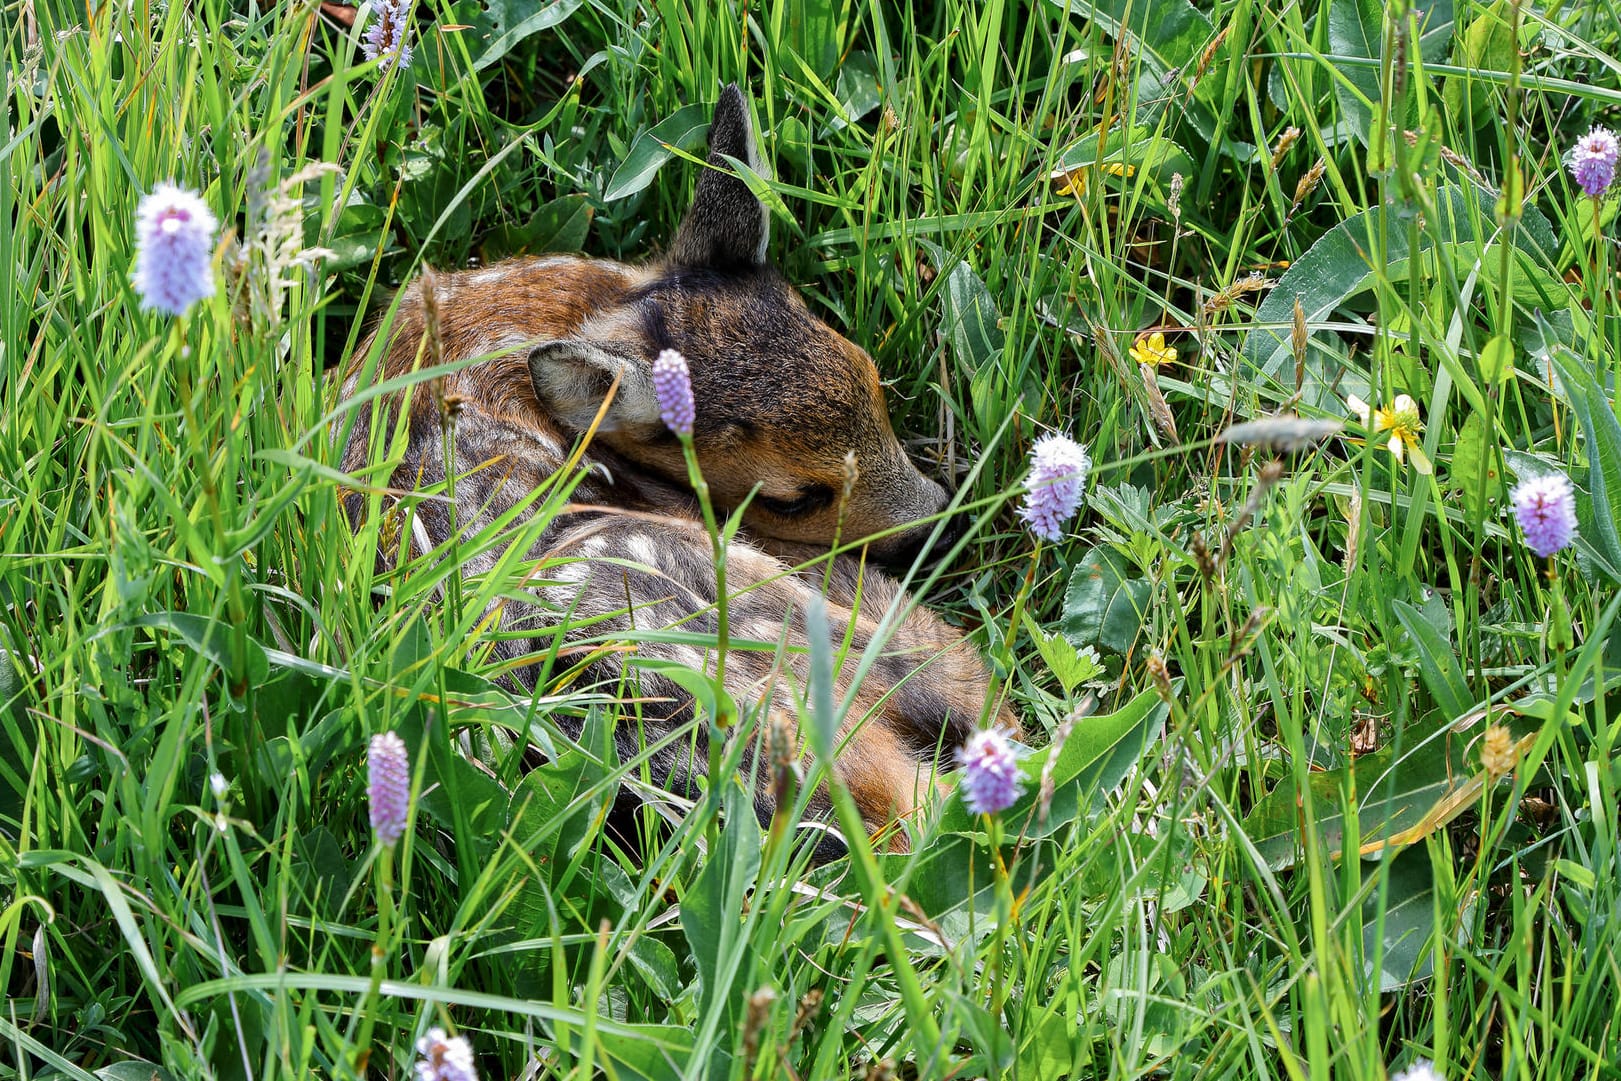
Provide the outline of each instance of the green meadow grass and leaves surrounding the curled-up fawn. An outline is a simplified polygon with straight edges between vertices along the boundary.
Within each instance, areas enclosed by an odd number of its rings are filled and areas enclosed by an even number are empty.
[[[426,0],[386,78],[310,3],[0,10],[0,1076],[405,1076],[428,1026],[488,1078],[1621,1076],[1616,203],[1559,159],[1621,122],[1613,0]],[[1052,744],[1047,815],[812,870],[728,783],[629,852],[632,708],[493,682],[515,570],[446,603],[339,511],[376,478],[329,373],[391,290],[655,251],[702,131],[626,162],[725,81],[773,258],[982,507],[926,600]],[[227,237],[182,319],[128,277],[167,178]],[[1354,418],[1214,441],[1352,394],[1410,394],[1433,475]],[[1097,467],[1036,551],[1046,429]],[[1503,506],[1551,468],[1550,577]]]

